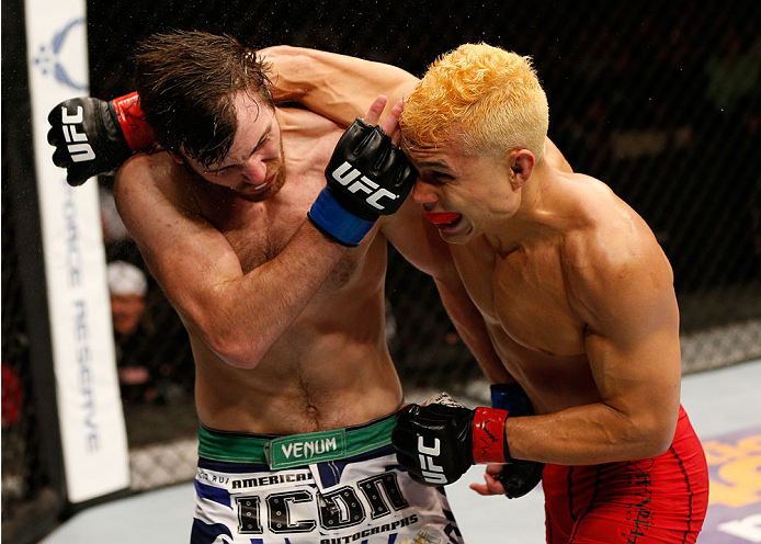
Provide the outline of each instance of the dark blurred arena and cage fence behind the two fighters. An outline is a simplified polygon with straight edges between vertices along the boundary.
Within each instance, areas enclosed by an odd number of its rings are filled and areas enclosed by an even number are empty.
[[[761,356],[760,2],[89,0],[87,10],[90,94],[102,99],[133,90],[135,44],[170,29],[316,47],[416,76],[464,42],[533,56],[550,138],[643,215],[671,260],[684,372]],[[69,510],[50,438],[53,371],[32,341],[47,317],[23,21],[23,2],[3,0],[3,543],[35,542]],[[186,335],[121,229],[111,181],[99,180],[106,260],[146,273],[137,298],[122,301],[134,324],[115,332],[128,495],[193,477],[197,420]],[[393,249],[389,263],[387,336],[405,387],[485,396],[432,282]]]

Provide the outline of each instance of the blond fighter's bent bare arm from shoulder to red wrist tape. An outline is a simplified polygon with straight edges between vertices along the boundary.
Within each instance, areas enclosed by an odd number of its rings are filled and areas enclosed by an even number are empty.
[[[607,463],[659,455],[673,440],[679,309],[666,257],[655,238],[645,246],[628,259],[598,256],[588,270],[570,272],[571,301],[588,324],[584,344],[601,398],[557,413],[509,418],[513,456]]]

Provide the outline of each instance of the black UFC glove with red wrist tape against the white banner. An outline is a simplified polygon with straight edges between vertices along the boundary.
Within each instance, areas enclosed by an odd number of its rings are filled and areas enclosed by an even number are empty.
[[[113,172],[135,151],[154,141],[136,92],[111,102],[90,97],[65,100],[47,116],[53,162],[66,168],[77,186],[93,175]]]

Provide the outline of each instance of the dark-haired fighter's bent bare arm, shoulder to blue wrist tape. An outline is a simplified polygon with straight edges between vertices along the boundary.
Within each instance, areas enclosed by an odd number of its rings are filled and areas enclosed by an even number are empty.
[[[183,167],[138,155],[118,172],[120,214],[185,326],[232,366],[257,366],[345,248],[305,222],[274,259],[243,273],[223,234],[194,211]]]

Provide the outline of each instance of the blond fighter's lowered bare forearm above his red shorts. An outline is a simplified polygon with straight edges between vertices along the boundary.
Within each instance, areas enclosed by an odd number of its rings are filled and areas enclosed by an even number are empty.
[[[675,417],[627,415],[603,403],[504,423],[510,456],[559,465],[649,458],[673,439]]]

